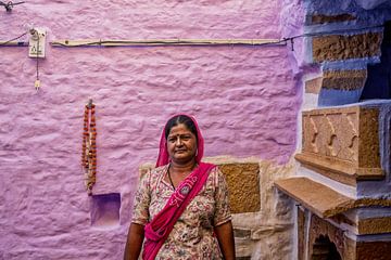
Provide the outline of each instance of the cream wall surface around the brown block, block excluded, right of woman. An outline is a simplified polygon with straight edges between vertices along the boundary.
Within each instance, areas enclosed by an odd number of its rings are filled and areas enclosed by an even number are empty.
[[[278,166],[270,161],[235,158],[206,158],[218,165],[258,164],[261,208],[256,212],[234,213],[232,223],[242,236],[236,236],[237,257],[251,259],[292,259],[292,202],[273,187],[277,179],[292,174],[294,164]],[[247,203],[247,202],[244,202]],[[248,237],[248,231],[251,232]]]

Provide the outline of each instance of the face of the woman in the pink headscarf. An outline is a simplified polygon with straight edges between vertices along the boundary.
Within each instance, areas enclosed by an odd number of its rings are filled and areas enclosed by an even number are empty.
[[[197,138],[184,123],[173,127],[167,136],[167,152],[176,164],[186,164],[195,157]]]

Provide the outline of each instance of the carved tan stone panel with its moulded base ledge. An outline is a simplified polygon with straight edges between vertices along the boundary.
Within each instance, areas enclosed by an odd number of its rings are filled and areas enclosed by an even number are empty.
[[[361,106],[303,112],[303,146],[295,158],[346,184],[383,178],[378,113]]]

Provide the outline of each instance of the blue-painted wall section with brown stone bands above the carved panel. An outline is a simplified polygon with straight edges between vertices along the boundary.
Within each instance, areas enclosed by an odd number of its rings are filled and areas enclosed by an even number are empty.
[[[319,72],[305,79],[305,84],[306,93],[316,94],[317,106],[360,101],[367,66],[380,62],[384,24],[389,20],[387,6],[365,10],[354,1],[308,1],[305,61],[318,66]]]

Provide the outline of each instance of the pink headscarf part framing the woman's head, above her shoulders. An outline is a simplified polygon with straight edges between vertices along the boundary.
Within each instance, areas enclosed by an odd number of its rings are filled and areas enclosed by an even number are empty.
[[[200,164],[201,158],[203,156],[203,148],[204,148],[203,147],[204,142],[203,142],[203,138],[202,138],[200,128],[198,127],[198,123],[197,123],[195,119],[192,116],[189,116],[189,115],[186,115],[186,114],[177,114],[175,116],[172,116],[169,118],[169,120],[172,118],[174,118],[174,117],[177,117],[177,116],[187,116],[187,117],[189,117],[193,121],[193,123],[195,126],[195,129],[197,129],[197,155],[195,155],[195,161],[197,161],[197,164]],[[165,125],[165,127],[163,129],[163,132],[162,132],[161,142],[160,142],[160,150],[159,150],[159,156],[157,156],[157,160],[156,160],[156,167],[164,166],[164,165],[167,165],[169,162],[169,156],[168,156],[168,152],[167,152],[167,140],[165,138],[165,130],[167,128],[168,121],[166,122],[166,125]]]

